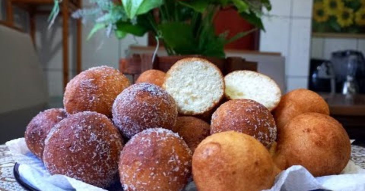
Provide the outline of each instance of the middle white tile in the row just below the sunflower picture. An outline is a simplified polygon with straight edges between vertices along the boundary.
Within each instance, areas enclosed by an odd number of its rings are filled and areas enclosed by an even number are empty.
[[[346,49],[357,49],[357,39],[339,39],[326,38],[324,39],[323,56],[325,59],[331,58],[331,53],[334,51],[341,51]]]

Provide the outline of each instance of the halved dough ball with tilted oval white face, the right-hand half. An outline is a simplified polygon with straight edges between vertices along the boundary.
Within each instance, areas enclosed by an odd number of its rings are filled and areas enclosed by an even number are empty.
[[[280,102],[281,90],[274,80],[262,73],[241,70],[224,77],[228,99],[251,99],[273,110]]]

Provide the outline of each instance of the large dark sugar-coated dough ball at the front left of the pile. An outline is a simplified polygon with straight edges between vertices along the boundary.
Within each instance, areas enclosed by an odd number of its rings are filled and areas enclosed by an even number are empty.
[[[123,148],[110,119],[80,112],[59,122],[46,138],[43,161],[50,174],[61,174],[105,188],[117,180]]]

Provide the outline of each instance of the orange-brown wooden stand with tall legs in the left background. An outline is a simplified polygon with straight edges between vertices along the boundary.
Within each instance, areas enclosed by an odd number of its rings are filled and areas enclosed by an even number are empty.
[[[14,6],[20,7],[26,10],[29,14],[30,22],[30,35],[32,37],[33,43],[35,43],[35,16],[37,14],[49,14],[50,11],[45,11],[44,9],[39,9],[39,6],[50,5],[53,7],[54,0],[5,0],[6,1],[6,21],[1,21],[0,24],[6,25],[11,28],[20,30],[14,26]],[[62,0],[60,4],[60,12],[62,15],[62,47],[63,47],[63,85],[66,87],[69,79],[69,18],[70,13],[76,9],[81,8],[82,0]],[[81,20],[76,21],[76,72],[81,72]]]

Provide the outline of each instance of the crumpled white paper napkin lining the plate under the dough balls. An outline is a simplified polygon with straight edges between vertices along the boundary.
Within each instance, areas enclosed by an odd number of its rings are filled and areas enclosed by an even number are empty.
[[[51,176],[41,160],[31,154],[24,138],[11,140],[6,145],[15,162],[20,164],[21,177],[39,190],[105,191],[64,175]],[[308,191],[320,188],[333,191],[365,191],[365,170],[350,161],[341,175],[314,178],[304,167],[292,166],[281,172],[276,177],[274,186],[265,191]],[[189,183],[185,191],[196,191],[194,183]]]

